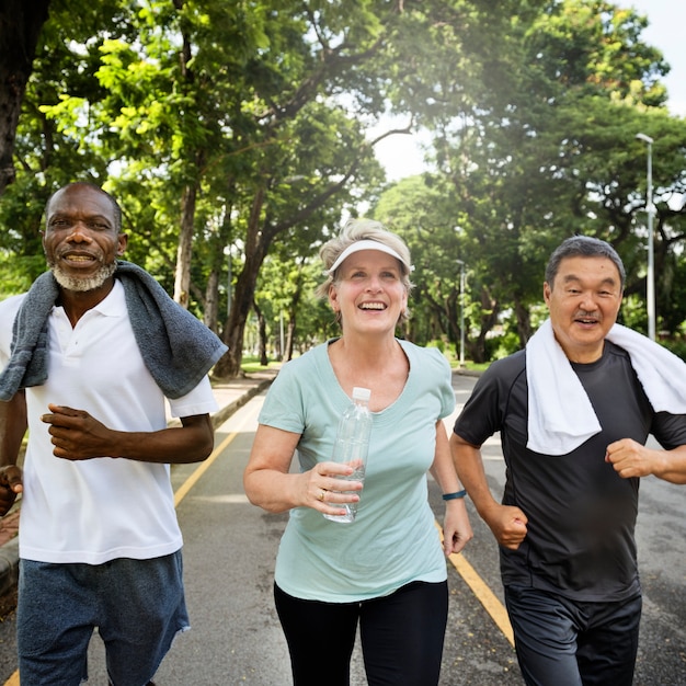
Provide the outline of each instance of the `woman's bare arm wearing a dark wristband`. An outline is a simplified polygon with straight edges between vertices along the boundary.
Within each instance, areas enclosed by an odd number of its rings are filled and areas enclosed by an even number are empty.
[[[443,493],[456,493],[462,487],[457,479],[455,465],[450,457],[448,435],[443,420],[436,422],[436,454],[431,466],[431,473],[438,482]],[[443,550],[447,556],[459,552],[473,537],[469,515],[464,498],[445,501],[445,516],[443,522]]]

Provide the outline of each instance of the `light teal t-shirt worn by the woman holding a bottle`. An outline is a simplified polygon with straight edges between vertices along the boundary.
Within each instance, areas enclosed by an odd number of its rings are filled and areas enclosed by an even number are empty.
[[[413,581],[447,578],[426,472],[436,421],[450,414],[450,367],[435,348],[399,341],[410,363],[400,397],[374,412],[365,487],[355,522],[295,507],[276,558],[277,585],[298,598],[352,603],[393,593]],[[328,343],[283,366],[260,423],[300,434],[301,471],[330,459],[339,418],[351,402],[333,373]]]

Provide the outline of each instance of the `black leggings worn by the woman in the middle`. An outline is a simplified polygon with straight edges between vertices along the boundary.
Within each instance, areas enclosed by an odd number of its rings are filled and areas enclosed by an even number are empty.
[[[435,686],[448,619],[447,582],[413,582],[362,603],[294,598],[274,585],[294,686],[350,686],[357,622],[369,686]]]

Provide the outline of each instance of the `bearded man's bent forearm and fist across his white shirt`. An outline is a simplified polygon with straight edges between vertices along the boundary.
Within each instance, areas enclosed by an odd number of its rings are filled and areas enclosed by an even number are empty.
[[[84,410],[48,405],[53,454],[69,460],[121,457],[141,462],[186,464],[204,460],[214,447],[209,414],[181,418],[181,426],[153,432],[114,431]]]

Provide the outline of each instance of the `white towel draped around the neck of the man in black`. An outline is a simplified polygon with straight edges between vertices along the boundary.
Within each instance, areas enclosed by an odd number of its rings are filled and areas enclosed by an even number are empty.
[[[686,414],[686,363],[650,339],[615,324],[607,340],[629,353],[631,365],[655,412]],[[526,345],[527,448],[567,455],[601,431],[591,401],[550,320]]]

